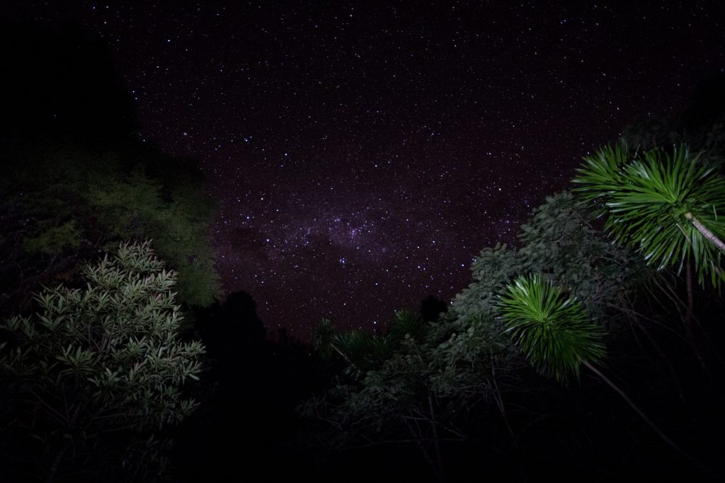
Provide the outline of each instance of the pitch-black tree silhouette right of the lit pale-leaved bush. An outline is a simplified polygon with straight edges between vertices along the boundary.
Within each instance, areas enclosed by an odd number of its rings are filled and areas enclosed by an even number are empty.
[[[178,433],[174,461],[185,481],[252,474],[289,481],[313,471],[290,445],[300,427],[295,408],[328,375],[318,356],[286,332],[265,338],[256,308],[249,293],[235,292],[196,310],[210,371],[194,390],[202,406]]]

